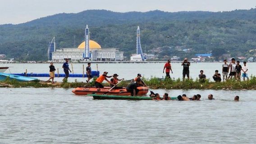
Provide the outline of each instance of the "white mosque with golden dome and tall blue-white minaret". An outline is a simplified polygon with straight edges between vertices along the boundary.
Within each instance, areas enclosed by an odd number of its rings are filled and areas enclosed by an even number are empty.
[[[55,48],[55,38],[49,43],[48,60],[59,61],[64,59],[80,61],[123,61],[123,51],[119,48],[101,48],[96,41],[90,40],[88,25],[85,28],[85,41],[77,48]]]

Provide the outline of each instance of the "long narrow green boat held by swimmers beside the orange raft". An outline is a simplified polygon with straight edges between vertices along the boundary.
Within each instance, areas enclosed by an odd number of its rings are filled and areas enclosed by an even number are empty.
[[[105,95],[105,94],[87,94],[93,96],[93,99],[120,99],[120,100],[152,100],[151,97],[146,96],[126,96],[126,95]],[[177,97],[171,97],[177,99]]]

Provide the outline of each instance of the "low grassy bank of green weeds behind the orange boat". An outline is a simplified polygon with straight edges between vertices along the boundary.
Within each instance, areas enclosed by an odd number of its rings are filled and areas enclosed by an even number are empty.
[[[16,80],[6,79],[5,81],[1,81],[4,83],[2,87],[35,87],[35,88],[43,88],[43,87],[56,87],[56,88],[76,88],[76,87],[84,87],[84,86],[93,86],[94,80],[90,83],[83,82],[57,82],[55,84],[47,83],[44,81],[32,81],[32,82],[19,82]],[[198,79],[190,79],[182,81],[181,79],[167,79],[160,80],[156,77],[151,78],[143,78],[143,81],[148,85],[151,89],[198,89],[198,90],[221,90],[221,89],[229,89],[229,90],[256,90],[256,77],[251,76],[249,81],[235,81],[229,80],[225,82],[210,82],[206,80],[205,82],[200,82]],[[126,86],[129,84],[129,81],[122,81],[118,86]],[[103,85],[109,86],[108,83],[104,83]]]

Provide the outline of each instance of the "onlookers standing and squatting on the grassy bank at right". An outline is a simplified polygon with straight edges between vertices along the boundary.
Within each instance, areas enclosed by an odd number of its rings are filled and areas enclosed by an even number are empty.
[[[164,66],[164,70],[163,73],[166,73],[166,78],[170,78],[170,72],[173,73],[171,64],[170,64],[171,60],[168,59],[167,63],[165,63]],[[231,59],[231,63],[227,64],[227,60],[224,59],[224,64],[222,65],[222,74],[223,74],[223,81],[227,81],[229,79],[232,79],[233,76],[235,78],[235,80],[240,81],[241,80],[241,74],[242,74],[242,78],[243,81],[245,81],[245,79],[247,78],[247,80],[249,80],[248,77],[248,66],[246,62],[243,62],[243,66],[240,65],[240,61],[235,61],[235,58]],[[183,66],[183,81],[185,80],[185,77],[187,76],[187,79],[189,79],[189,66],[190,66],[190,62],[187,61],[187,58],[185,58],[181,64],[181,66]],[[229,73],[230,71],[230,73]],[[199,81],[201,82],[205,82],[206,81],[206,75],[203,74],[203,70],[200,70],[200,74],[198,75],[199,77]],[[213,80],[216,82],[220,82],[221,81],[221,75],[219,73],[219,70],[215,70],[214,75],[212,76]]]

